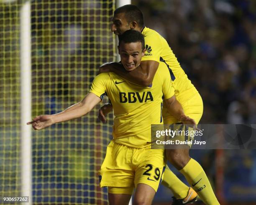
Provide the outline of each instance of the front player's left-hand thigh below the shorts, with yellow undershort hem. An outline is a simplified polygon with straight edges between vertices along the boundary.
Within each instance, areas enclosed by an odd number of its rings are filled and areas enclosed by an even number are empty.
[[[108,201],[110,205],[128,205],[133,188],[108,187]]]

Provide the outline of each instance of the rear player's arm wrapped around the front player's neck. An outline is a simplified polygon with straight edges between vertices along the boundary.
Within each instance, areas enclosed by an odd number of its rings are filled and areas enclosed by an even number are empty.
[[[110,62],[100,67],[100,73],[115,72],[116,74],[123,77],[125,80],[147,87],[152,83],[158,66],[159,62],[157,61],[144,60],[141,61],[140,66],[136,67],[136,69],[132,71],[127,71],[121,63]]]

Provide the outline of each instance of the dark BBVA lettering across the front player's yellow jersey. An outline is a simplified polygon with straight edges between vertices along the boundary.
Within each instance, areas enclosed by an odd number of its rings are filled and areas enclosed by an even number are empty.
[[[147,102],[147,101],[154,101],[153,96],[150,91],[148,92],[119,92],[119,98],[121,103],[134,103],[134,102]]]

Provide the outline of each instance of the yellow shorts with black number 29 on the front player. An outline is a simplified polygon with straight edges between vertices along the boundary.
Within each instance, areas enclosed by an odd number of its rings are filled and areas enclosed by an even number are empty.
[[[164,150],[150,146],[136,149],[110,142],[100,171],[100,187],[111,187],[110,193],[132,194],[139,183],[157,191],[166,166]]]

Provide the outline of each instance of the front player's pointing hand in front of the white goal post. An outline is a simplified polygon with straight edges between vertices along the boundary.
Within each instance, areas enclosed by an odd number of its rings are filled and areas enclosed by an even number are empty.
[[[33,121],[27,122],[27,125],[32,125],[34,130],[41,130],[54,124],[51,115],[39,115],[33,118]]]

